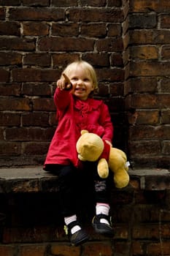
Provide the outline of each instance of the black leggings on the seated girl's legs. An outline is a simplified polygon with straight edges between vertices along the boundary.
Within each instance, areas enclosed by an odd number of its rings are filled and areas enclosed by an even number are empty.
[[[106,179],[98,176],[96,162],[83,162],[81,169],[73,165],[46,165],[45,170],[58,176],[64,217],[77,214],[77,206],[85,197],[94,197],[97,203],[109,203],[112,179],[110,175]]]

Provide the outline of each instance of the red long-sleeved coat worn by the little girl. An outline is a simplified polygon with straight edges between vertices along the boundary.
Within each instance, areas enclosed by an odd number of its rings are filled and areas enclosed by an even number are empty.
[[[69,91],[56,89],[54,102],[57,108],[58,127],[45,159],[46,164],[77,166],[76,143],[82,129],[112,142],[113,126],[107,105],[102,100],[80,100]]]

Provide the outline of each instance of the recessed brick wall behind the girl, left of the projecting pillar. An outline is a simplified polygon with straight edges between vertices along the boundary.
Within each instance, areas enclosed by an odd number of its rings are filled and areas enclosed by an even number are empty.
[[[124,19],[120,0],[1,1],[1,166],[44,162],[57,125],[55,81],[80,57],[96,68],[96,97],[109,105],[115,144],[125,148]]]

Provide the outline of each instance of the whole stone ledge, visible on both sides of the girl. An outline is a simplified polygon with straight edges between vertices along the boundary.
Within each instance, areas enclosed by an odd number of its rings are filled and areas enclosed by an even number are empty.
[[[166,169],[129,170],[130,183],[125,189],[170,189],[170,171]],[[0,168],[0,193],[57,192],[58,177],[42,166]]]

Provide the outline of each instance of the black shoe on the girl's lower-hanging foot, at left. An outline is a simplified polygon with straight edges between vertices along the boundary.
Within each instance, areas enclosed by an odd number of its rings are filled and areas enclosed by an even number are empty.
[[[88,241],[88,239],[89,239],[88,234],[85,232],[85,230],[82,230],[82,228],[81,228],[81,230],[78,230],[74,234],[71,233],[72,227],[74,227],[76,225],[80,226],[80,223],[77,222],[77,221],[74,221],[74,222],[71,222],[66,227],[66,229],[68,231],[69,240],[71,241],[71,244],[74,245],[74,246],[78,246],[80,244],[83,244],[83,243],[85,243],[85,241]]]

